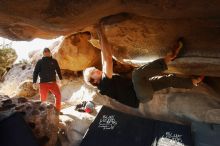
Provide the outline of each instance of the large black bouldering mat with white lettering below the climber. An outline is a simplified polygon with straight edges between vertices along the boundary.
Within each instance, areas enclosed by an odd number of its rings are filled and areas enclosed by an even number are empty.
[[[152,145],[191,146],[190,127],[140,118],[103,106],[80,146]]]

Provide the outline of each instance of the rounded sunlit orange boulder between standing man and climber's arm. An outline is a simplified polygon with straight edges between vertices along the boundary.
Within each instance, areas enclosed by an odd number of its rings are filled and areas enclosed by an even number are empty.
[[[72,34],[53,50],[61,69],[82,71],[100,64],[100,51],[89,43],[90,37],[89,32]]]

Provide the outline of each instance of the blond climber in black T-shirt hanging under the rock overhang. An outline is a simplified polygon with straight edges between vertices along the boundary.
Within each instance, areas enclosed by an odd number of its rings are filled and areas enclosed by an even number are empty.
[[[97,34],[101,45],[102,71],[95,67],[84,70],[84,80],[87,84],[96,86],[100,93],[107,95],[125,105],[137,108],[139,102],[147,102],[153,98],[155,91],[168,87],[192,88],[203,80],[183,78],[176,75],[160,75],[167,70],[167,63],[179,57],[183,42],[179,39],[173,50],[164,58],[147,63],[132,72],[132,79],[113,74],[112,45],[109,44],[102,24],[98,24]]]

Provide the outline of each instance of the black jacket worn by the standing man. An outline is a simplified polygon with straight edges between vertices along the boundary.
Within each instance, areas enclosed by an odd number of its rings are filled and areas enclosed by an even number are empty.
[[[38,75],[40,76],[40,82],[54,82],[56,81],[56,73],[58,74],[60,80],[62,80],[62,75],[60,72],[60,67],[56,59],[52,57],[43,57],[38,60],[34,73],[33,73],[33,83],[37,82]]]

